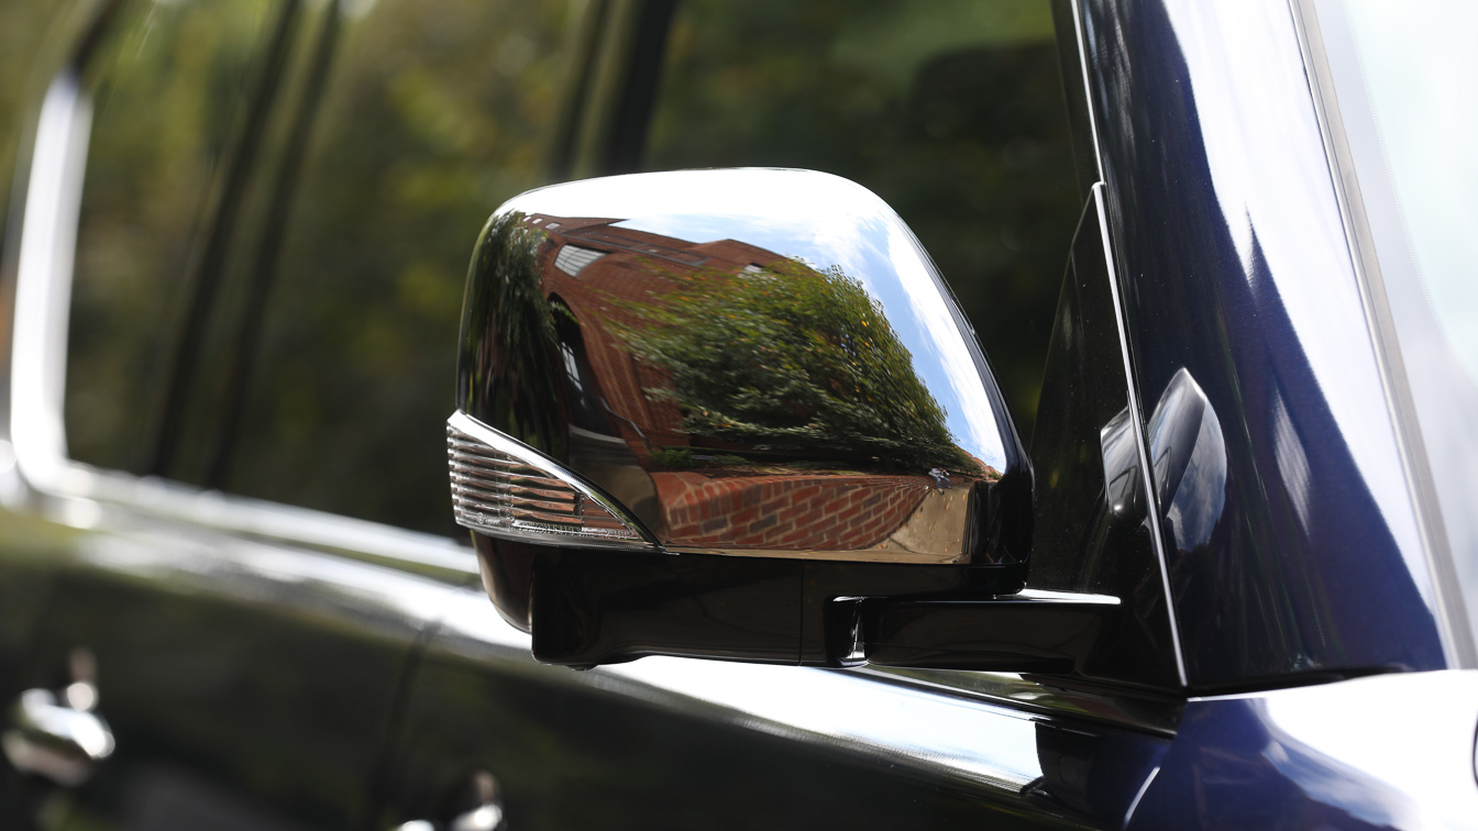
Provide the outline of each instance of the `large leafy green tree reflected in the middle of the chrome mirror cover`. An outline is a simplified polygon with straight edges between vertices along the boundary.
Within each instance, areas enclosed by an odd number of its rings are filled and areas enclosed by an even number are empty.
[[[641,324],[616,330],[638,358],[671,373],[672,387],[652,392],[683,408],[692,433],[980,470],[856,278],[780,260],[760,274],[701,269],[671,279],[649,303],[622,303]]]

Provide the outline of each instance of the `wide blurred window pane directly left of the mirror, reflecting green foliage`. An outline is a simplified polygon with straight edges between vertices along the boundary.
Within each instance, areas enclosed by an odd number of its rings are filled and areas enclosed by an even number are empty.
[[[542,183],[573,9],[343,7],[222,485],[452,532],[467,262],[492,210]]]

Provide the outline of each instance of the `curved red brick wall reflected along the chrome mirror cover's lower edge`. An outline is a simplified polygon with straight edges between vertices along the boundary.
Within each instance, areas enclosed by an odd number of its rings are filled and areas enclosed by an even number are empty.
[[[928,494],[922,476],[653,473],[670,538],[690,546],[871,549]]]

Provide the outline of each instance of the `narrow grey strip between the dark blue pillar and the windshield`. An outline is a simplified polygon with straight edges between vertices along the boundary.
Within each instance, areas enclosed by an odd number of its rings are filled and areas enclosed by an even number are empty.
[[[1289,15],[1296,30],[1304,71],[1308,75],[1310,96],[1314,101],[1314,117],[1318,121],[1320,138],[1324,142],[1324,157],[1329,163],[1330,186],[1339,206],[1339,219],[1349,248],[1351,269],[1366,311],[1366,330],[1370,333],[1376,356],[1376,371],[1385,390],[1386,411],[1395,426],[1397,454],[1401,460],[1401,475],[1411,500],[1411,513],[1432,574],[1432,597],[1437,605],[1437,628],[1448,667],[1478,667],[1478,645],[1466,623],[1468,611],[1459,589],[1453,566],[1453,550],[1447,540],[1443,512],[1437,498],[1437,484],[1426,463],[1426,447],[1416,417],[1416,402],[1406,379],[1401,346],[1395,331],[1395,319],[1386,300],[1380,260],[1375,250],[1375,237],[1366,217],[1364,200],[1360,192],[1360,177],[1354,155],[1345,136],[1335,92],[1333,72],[1324,55],[1324,40],[1318,28],[1315,0],[1289,0]],[[1454,618],[1463,618],[1454,623]]]

